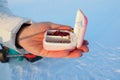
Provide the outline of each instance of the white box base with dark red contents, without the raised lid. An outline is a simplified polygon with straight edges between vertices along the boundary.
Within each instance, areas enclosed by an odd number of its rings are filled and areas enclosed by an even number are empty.
[[[66,32],[69,35],[48,35],[48,33]],[[48,30],[45,33],[44,48],[47,50],[74,49],[76,46],[75,35],[65,30]]]

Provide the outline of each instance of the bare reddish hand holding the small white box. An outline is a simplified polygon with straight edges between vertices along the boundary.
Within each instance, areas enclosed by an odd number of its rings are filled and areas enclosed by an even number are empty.
[[[88,42],[84,41],[82,47],[74,50],[48,51],[43,48],[44,32],[49,29],[71,30],[66,25],[54,24],[51,22],[33,23],[26,27],[18,36],[18,43],[26,51],[43,57],[52,58],[77,58],[82,56],[83,52],[88,52]]]

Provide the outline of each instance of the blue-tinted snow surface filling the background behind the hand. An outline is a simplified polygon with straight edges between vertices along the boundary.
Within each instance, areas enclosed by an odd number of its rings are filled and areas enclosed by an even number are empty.
[[[120,80],[119,0],[8,2],[19,16],[71,26],[77,9],[82,9],[89,21],[85,39],[90,51],[77,59],[44,58],[35,63],[13,59],[0,63],[0,80]]]

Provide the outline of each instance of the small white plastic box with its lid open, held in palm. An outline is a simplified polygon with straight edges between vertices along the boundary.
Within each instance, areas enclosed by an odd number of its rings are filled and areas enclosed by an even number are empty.
[[[74,49],[82,46],[87,27],[87,18],[81,10],[77,11],[74,32],[66,30],[48,30],[45,32],[43,47],[46,50]]]

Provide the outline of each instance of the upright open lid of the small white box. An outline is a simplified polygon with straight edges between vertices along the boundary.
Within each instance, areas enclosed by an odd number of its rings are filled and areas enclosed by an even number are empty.
[[[86,26],[87,26],[87,17],[79,9],[76,14],[76,20],[74,25],[74,33],[77,37],[77,47],[80,47],[83,43]]]

